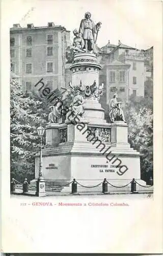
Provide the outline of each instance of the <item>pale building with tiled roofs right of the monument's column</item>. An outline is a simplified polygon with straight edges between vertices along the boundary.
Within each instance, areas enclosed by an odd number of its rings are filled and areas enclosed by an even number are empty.
[[[104,83],[106,93],[101,97],[103,108],[108,107],[112,91],[125,101],[130,95],[144,97],[145,82],[152,77],[153,48],[138,50],[122,44],[120,40],[117,46],[109,41],[101,48],[98,59],[102,66],[99,83]]]

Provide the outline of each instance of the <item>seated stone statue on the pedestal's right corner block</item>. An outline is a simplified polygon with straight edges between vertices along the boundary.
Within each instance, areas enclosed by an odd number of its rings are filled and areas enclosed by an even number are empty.
[[[118,98],[118,94],[115,93],[113,95],[113,98],[110,101],[110,119],[111,122],[114,121],[124,121],[126,123],[124,114],[123,114],[123,110],[121,109],[121,102],[117,101]]]

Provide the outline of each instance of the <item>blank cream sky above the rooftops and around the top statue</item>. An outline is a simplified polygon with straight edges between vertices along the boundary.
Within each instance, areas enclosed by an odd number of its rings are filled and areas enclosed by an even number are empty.
[[[95,24],[101,22],[97,45],[123,44],[148,49],[161,40],[161,1],[143,0],[2,0],[2,15],[7,26],[47,26],[48,22],[78,30],[85,12],[91,12]],[[158,26],[160,25],[160,26]]]

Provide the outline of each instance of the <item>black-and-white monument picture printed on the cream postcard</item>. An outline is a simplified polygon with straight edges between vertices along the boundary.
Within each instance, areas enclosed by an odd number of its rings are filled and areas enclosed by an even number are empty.
[[[92,12],[28,20],[10,28],[11,193],[153,193],[153,45],[99,45]]]

